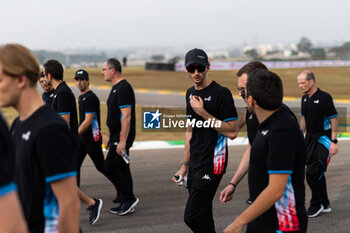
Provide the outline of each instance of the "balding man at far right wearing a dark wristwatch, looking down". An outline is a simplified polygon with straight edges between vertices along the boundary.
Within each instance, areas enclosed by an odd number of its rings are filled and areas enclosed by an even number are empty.
[[[299,88],[305,94],[301,99],[300,128],[306,131],[306,180],[312,193],[307,211],[309,217],[332,211],[324,173],[331,157],[338,152],[338,114],[332,96],[317,88],[315,82],[311,71],[298,75]]]

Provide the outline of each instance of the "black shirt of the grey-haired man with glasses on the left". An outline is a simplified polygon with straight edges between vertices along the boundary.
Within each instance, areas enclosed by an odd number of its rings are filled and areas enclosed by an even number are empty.
[[[135,139],[135,94],[131,85],[125,80],[121,80],[112,87],[107,100],[107,126],[110,132],[110,142],[119,142],[121,121],[123,118],[122,108],[131,108],[131,120],[127,147],[131,147]]]

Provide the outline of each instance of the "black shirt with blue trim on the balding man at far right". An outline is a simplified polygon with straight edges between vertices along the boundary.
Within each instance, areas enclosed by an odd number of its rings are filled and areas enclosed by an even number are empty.
[[[308,134],[331,138],[330,119],[338,116],[338,113],[330,94],[319,88],[310,98],[305,94],[301,99],[301,115],[305,117]]]

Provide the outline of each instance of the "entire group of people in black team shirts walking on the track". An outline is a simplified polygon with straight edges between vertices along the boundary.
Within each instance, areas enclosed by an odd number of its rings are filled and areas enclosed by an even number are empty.
[[[237,73],[239,95],[247,104],[239,123],[231,91],[209,77],[205,51],[190,50],[185,70],[194,83],[186,93],[187,117],[220,122],[220,127],[196,124],[187,128],[184,157],[175,173],[180,179],[188,176],[184,221],[193,232],[215,232],[212,201],[227,169],[227,138],[236,138],[244,124],[249,145],[232,180],[221,191],[220,201],[230,201],[248,173],[251,205],[224,232],[242,232],[247,225],[248,233],[303,233],[308,217],[331,212],[324,173],[338,152],[337,111],[332,97],[316,87],[311,71],[297,76],[305,94],[298,124],[282,103],[280,77],[261,62],[250,62]],[[0,232],[79,232],[79,200],[87,204],[90,224],[94,224],[103,201],[79,188],[86,154],[116,189],[113,202],[118,205],[109,212],[135,211],[139,199],[133,191],[130,166],[122,157],[129,154],[135,139],[135,95],[117,59],[106,60],[102,74],[112,84],[107,100],[106,159],[101,147],[100,102],[89,88],[88,72],[80,69],[74,77],[81,92],[78,122],[75,97],[63,81],[63,66],[57,60],[47,61],[40,73],[29,49],[19,44],[0,46],[0,107],[12,106],[18,112],[10,131],[0,118],[0,206],[12,210],[0,212]],[[42,96],[36,89],[38,81],[44,89]],[[307,210],[305,164],[312,191]]]

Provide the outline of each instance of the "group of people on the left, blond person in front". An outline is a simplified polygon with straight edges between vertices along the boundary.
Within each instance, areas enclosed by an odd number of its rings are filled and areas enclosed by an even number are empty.
[[[109,212],[126,215],[135,210],[129,153],[135,138],[135,96],[123,78],[118,60],[108,59],[102,69],[111,82],[107,106],[109,128],[106,160],[102,152],[100,103],[89,89],[85,70],[75,73],[81,92],[78,123],[76,100],[63,81],[63,66],[49,60],[40,73],[34,54],[19,44],[0,46],[0,106],[13,107],[18,117],[10,132],[0,121],[2,211],[0,232],[79,232],[80,201],[88,205],[90,224],[100,215],[102,200],[79,188],[80,167],[89,154],[97,170],[114,185],[116,207]],[[40,79],[40,80],[39,80]],[[37,83],[42,85],[42,97]]]

